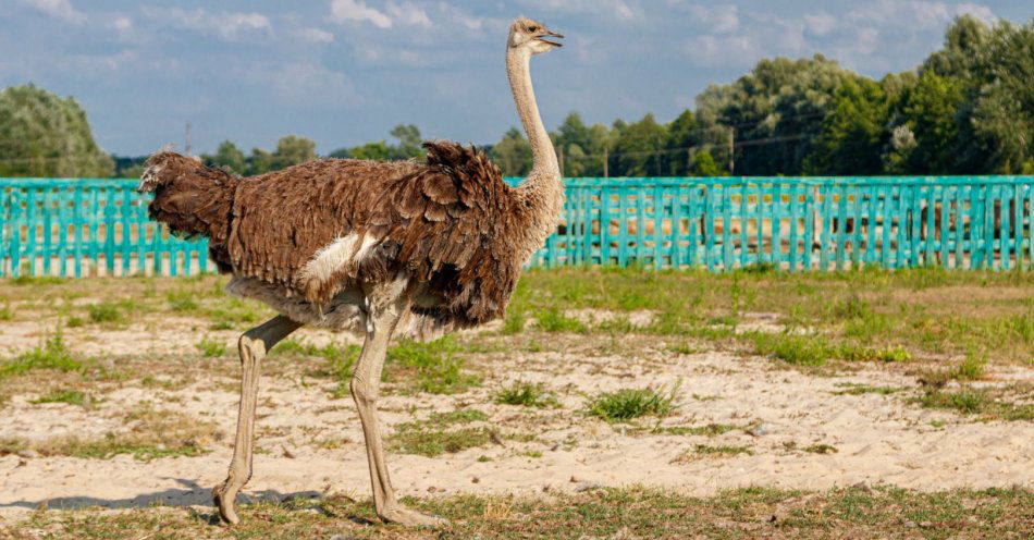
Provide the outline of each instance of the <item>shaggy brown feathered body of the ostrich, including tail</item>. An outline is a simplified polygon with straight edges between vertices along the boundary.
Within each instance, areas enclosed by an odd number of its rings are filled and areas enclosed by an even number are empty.
[[[316,305],[404,271],[436,298],[415,312],[485,322],[509,302],[532,218],[484,152],[424,148],[427,164],[325,159],[250,179],[162,152],[141,186],[157,186],[151,217],[208,236],[223,271]]]

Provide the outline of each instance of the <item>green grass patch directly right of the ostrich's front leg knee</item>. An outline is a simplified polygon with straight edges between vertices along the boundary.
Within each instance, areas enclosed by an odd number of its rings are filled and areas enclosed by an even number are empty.
[[[431,394],[464,392],[481,380],[463,370],[464,359],[457,356],[458,352],[454,335],[429,343],[401,340],[387,349],[382,379],[404,381],[413,390]]]

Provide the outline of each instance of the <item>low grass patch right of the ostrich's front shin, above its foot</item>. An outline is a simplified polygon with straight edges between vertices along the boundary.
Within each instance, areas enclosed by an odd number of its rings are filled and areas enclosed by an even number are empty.
[[[435,413],[427,420],[396,426],[389,439],[389,449],[403,454],[434,457],[483,446],[492,441],[494,432],[484,426],[466,425],[485,422],[488,419],[489,416],[481,410],[470,408]]]

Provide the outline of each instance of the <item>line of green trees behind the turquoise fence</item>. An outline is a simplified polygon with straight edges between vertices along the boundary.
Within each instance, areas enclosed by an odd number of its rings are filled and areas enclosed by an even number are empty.
[[[587,125],[570,113],[551,134],[567,176],[1034,174],[1034,20],[987,26],[963,16],[916,70],[874,81],[816,54],[762,60],[713,85],[667,123]],[[0,175],[139,175],[143,158],[110,157],[71,98],[33,86],[0,93]],[[415,125],[336,158],[421,159]],[[485,145],[508,176],[531,169],[517,128]],[[232,142],[201,158],[242,175],[317,157],[316,143],[282,137],[245,154]]]

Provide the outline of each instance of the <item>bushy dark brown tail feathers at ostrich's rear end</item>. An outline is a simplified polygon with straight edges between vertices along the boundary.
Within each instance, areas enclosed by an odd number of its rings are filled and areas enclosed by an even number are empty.
[[[148,216],[174,234],[207,236],[212,257],[220,262],[217,251],[225,250],[239,179],[171,151],[155,154],[144,164],[137,189],[155,194]]]

